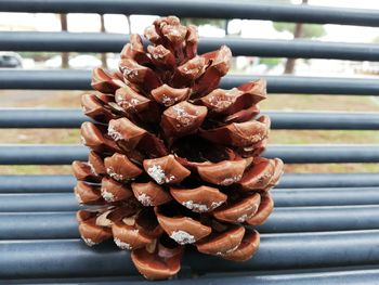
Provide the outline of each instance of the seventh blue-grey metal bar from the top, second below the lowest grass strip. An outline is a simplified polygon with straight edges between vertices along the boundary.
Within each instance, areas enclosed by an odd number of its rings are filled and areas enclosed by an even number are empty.
[[[275,207],[379,205],[379,187],[274,189]],[[73,189],[67,193],[0,194],[0,212],[74,211]]]

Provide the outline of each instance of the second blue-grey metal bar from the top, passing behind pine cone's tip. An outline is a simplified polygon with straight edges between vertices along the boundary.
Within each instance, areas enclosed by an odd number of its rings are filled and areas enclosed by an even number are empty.
[[[129,35],[100,33],[0,31],[2,51],[120,52]],[[202,38],[199,53],[228,46],[234,55],[337,59],[378,61],[379,44],[324,42],[315,40],[274,40],[244,38]]]

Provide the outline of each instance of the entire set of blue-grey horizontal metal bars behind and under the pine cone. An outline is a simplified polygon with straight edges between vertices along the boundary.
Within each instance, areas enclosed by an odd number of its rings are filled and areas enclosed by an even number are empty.
[[[263,4],[241,0],[2,0],[0,11],[175,14],[379,27],[379,11],[375,10]],[[99,33],[0,31],[0,50],[118,52],[127,40],[125,35]],[[364,43],[227,37],[205,38],[199,49],[206,52],[223,43],[230,46],[235,55],[379,61],[379,46]],[[232,88],[256,77],[231,75],[222,80],[222,87]],[[269,92],[278,96],[280,93],[379,95],[379,80],[373,78],[265,78]],[[0,89],[90,90],[90,72],[0,70]],[[379,129],[377,113],[267,114],[272,117],[273,129]],[[0,109],[0,128],[78,128],[84,120],[79,109]],[[86,159],[87,155],[88,150],[79,145],[0,145],[1,165],[65,165],[73,159]],[[378,163],[379,146],[272,145],[266,155],[279,156],[293,164]],[[38,283],[43,278],[44,283],[119,284],[136,274],[128,252],[110,245],[89,250],[78,239],[74,216],[78,206],[71,194],[75,182],[71,176],[0,176],[0,283],[6,284],[8,278],[12,282],[17,278],[21,283],[35,278],[27,282]],[[195,252],[188,252],[184,260],[184,276],[190,276],[191,272],[205,276],[200,280],[174,280],[170,284],[201,281],[217,284],[377,281],[378,186],[377,173],[286,173],[273,191],[276,209],[267,223],[260,228],[263,233],[261,247],[254,259],[233,263],[212,257],[199,258]],[[185,269],[192,271],[185,273]],[[225,272],[232,275],[225,275]],[[120,277],[126,275],[128,277]],[[102,278],[96,278],[100,276]]]

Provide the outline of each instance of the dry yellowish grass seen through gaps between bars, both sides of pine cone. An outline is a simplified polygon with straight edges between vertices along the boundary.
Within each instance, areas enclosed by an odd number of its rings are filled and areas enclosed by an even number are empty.
[[[82,91],[0,92],[2,107],[79,107]],[[272,94],[260,105],[262,111],[351,111],[379,112],[378,101],[370,96]],[[77,129],[0,129],[2,143],[67,144],[80,143]],[[308,144],[379,144],[378,131],[360,130],[272,130],[270,143]],[[378,164],[287,165],[287,172],[379,172]],[[69,166],[0,166],[0,174],[69,174]]]

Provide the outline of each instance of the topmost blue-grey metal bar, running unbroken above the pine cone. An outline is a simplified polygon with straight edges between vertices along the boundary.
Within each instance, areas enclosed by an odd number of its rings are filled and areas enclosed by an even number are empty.
[[[341,9],[313,5],[264,4],[243,0],[2,0],[3,12],[113,13],[177,15],[180,17],[256,18],[280,22],[379,26],[377,10]]]

